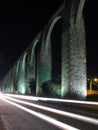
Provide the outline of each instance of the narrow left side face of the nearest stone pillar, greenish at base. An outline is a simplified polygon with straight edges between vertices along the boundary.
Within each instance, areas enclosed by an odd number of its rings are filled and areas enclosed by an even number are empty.
[[[62,78],[61,78],[61,97],[69,96],[69,19],[70,19],[70,7],[71,1],[66,0],[63,10],[63,28],[62,28]]]

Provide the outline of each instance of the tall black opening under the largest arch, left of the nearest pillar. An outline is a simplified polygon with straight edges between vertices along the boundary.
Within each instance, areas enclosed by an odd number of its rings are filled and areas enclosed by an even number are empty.
[[[51,32],[52,80],[61,84],[61,49],[62,49],[62,19],[59,19]]]

